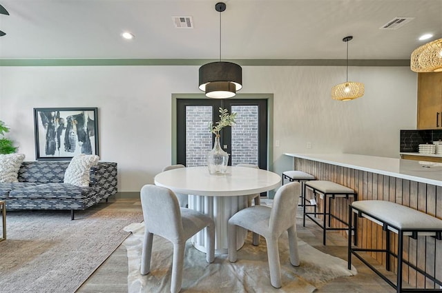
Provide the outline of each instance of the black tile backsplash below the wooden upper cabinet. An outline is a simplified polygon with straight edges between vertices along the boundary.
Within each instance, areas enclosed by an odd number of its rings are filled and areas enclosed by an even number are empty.
[[[418,152],[419,145],[442,140],[442,130],[401,130],[400,152]]]

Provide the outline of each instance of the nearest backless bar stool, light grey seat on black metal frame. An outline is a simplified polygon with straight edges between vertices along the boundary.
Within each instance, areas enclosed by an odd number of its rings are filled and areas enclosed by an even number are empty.
[[[352,247],[352,241],[349,240],[348,243],[348,267],[352,267],[352,254],[358,257],[365,265],[371,268],[378,276],[381,276],[384,281],[386,281],[389,285],[394,287],[397,293],[401,292],[442,292],[441,290],[437,290],[432,288],[432,285],[429,287],[425,286],[425,288],[403,288],[403,263],[408,265],[414,269],[415,272],[425,276],[425,279],[429,279],[434,282],[434,285],[437,287],[442,286],[442,280],[436,279],[436,276],[430,274],[431,272],[427,272],[419,269],[413,263],[410,263],[407,259],[403,259],[403,240],[404,236],[411,236],[413,239],[417,239],[417,236],[433,236],[439,241],[442,240],[442,220],[437,219],[435,216],[431,216],[430,214],[425,214],[424,212],[420,212],[419,210],[414,210],[412,208],[408,208],[405,205],[400,205],[398,203],[393,203],[391,201],[354,201],[351,205],[349,205],[349,226],[352,225],[352,214],[358,214],[360,217],[364,217],[373,221],[374,223],[381,225],[383,227],[383,231],[387,231],[383,238],[385,239],[385,249],[367,249],[367,248],[357,248]],[[398,234],[397,241],[390,241],[390,232],[392,231]],[[394,244],[396,244],[397,254],[394,252]],[[356,243],[355,243],[356,245]],[[425,248],[425,247],[424,247]],[[383,252],[386,254],[385,256],[385,270],[390,271],[390,259],[392,256],[397,259],[397,276],[396,276],[396,284],[390,281],[383,272],[376,269],[376,267],[372,266],[368,261],[363,258],[365,254],[359,254],[358,252]],[[429,250],[431,252],[431,250]],[[427,253],[427,250],[423,250],[423,253]],[[433,250],[434,253],[434,250]],[[407,269],[408,271],[408,269]],[[434,272],[433,272],[434,273]]]

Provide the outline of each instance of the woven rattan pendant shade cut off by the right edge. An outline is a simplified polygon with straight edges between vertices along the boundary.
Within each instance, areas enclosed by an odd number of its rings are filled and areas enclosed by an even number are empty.
[[[410,58],[410,68],[414,72],[442,72],[442,39],[416,48]]]

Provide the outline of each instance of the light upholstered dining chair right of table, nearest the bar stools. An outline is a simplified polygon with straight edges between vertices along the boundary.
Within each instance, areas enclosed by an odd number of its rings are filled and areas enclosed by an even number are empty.
[[[273,198],[271,208],[263,205],[240,210],[229,219],[229,261],[235,262],[237,228],[242,227],[265,237],[269,261],[270,283],[281,287],[281,268],[278,239],[285,231],[289,234],[289,254],[291,265],[298,266],[298,238],[296,235],[296,210],[300,195],[300,183],[282,185]]]

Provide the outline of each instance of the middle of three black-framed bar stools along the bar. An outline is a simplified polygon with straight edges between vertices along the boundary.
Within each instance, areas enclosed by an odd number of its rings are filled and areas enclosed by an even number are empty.
[[[305,205],[304,205],[304,214],[302,215],[302,226],[305,227],[305,217],[311,219],[311,221],[314,221],[316,225],[318,225],[320,228],[323,229],[323,244],[325,245],[325,233],[327,230],[349,230],[348,223],[346,221],[343,221],[342,219],[339,219],[338,216],[335,216],[332,214],[332,199],[335,198],[353,198],[354,201],[358,200],[358,194],[352,190],[352,188],[347,188],[344,185],[340,185],[338,183],[334,183],[332,181],[308,181],[304,184],[304,194],[309,188],[309,190],[313,191],[314,197],[316,199],[316,194],[320,194],[320,199],[323,199],[324,208],[322,212],[316,212],[316,209],[314,212],[306,212]],[[327,199],[329,202],[327,203]],[[306,199],[307,200],[307,199]],[[327,209],[328,205],[328,209]],[[320,223],[316,221],[314,216],[317,214],[323,215],[323,223]],[[314,216],[311,216],[314,215]],[[332,228],[331,227],[331,220],[336,219],[337,221],[340,221],[340,223],[343,223],[344,225],[347,225],[347,228]],[[328,223],[327,223],[328,219]],[[354,243],[356,245],[356,227],[357,225],[357,216],[354,216]],[[328,224],[328,225],[327,225]],[[351,237],[352,235],[349,235]]]

